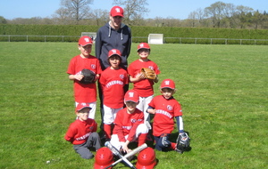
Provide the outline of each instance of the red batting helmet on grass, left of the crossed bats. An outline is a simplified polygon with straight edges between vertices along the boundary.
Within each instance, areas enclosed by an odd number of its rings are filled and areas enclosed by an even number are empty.
[[[112,165],[113,162],[113,152],[110,149],[104,147],[96,151],[95,169],[105,168],[106,166]]]

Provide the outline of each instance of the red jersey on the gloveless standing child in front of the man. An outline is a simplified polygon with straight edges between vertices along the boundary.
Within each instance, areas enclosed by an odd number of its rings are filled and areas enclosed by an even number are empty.
[[[106,68],[100,76],[104,104],[112,109],[120,109],[124,105],[124,85],[128,84],[128,72],[123,69]]]

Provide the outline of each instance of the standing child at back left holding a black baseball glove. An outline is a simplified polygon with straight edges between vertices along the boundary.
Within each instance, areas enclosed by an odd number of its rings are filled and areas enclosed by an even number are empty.
[[[88,103],[90,105],[89,118],[95,119],[96,113],[96,82],[82,84],[80,81],[84,77],[81,70],[87,68],[96,74],[96,79],[102,72],[99,60],[90,54],[93,41],[89,36],[81,36],[79,40],[80,55],[73,57],[67,69],[69,79],[73,80],[73,91],[75,105]]]

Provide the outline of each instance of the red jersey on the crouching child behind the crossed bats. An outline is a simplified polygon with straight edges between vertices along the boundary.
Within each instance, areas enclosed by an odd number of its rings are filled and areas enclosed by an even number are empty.
[[[124,108],[118,111],[113,123],[113,134],[118,135],[119,141],[125,142],[125,136],[128,134],[128,141],[132,141],[138,125],[144,123],[144,115],[139,109],[129,114],[127,113],[127,108]]]

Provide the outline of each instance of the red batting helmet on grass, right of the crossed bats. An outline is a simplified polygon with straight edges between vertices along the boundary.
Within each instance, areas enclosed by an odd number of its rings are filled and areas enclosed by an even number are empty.
[[[136,167],[138,169],[151,169],[156,165],[155,150],[152,148],[143,149],[138,154]]]

